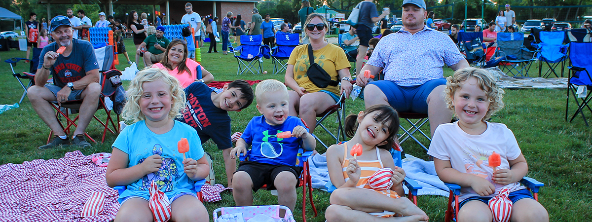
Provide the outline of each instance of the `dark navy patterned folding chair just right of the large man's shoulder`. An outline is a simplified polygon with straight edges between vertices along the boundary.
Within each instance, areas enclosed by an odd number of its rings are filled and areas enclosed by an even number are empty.
[[[485,61],[485,50],[483,46],[483,33],[461,32],[458,33],[458,46],[462,53],[465,53],[466,61],[473,67],[483,67]]]

